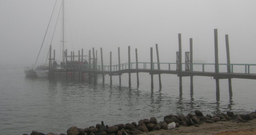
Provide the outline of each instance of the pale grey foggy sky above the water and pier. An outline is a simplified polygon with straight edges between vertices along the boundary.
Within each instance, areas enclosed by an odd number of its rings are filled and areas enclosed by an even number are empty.
[[[57,0],[37,64],[44,64],[52,40],[61,0]],[[55,0],[0,0],[0,65],[32,66],[41,47]],[[193,38],[194,60],[214,63],[214,29],[218,29],[219,63],[226,63],[225,34],[229,34],[231,63],[255,63],[255,0],[65,0],[65,49],[103,49],[103,61],[118,64],[150,62],[150,47],[159,47],[160,62],[175,63],[178,33],[182,56]],[[59,63],[62,50],[62,13],[58,18],[52,48]]]

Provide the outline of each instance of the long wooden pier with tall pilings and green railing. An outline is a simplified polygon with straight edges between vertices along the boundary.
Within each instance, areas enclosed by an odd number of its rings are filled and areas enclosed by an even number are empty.
[[[55,60],[55,50],[54,50],[54,58],[51,58],[51,49],[49,55],[49,79],[54,79],[54,75],[57,72],[62,72],[66,75],[68,72],[71,73],[79,73],[79,79],[81,75],[81,79],[83,79],[83,74],[88,74],[89,79],[94,76],[96,81],[97,75],[102,75],[102,81],[105,81],[104,75],[107,74],[110,76],[110,85],[112,85],[112,76],[118,75],[119,76],[119,84],[121,84],[121,75],[122,74],[129,74],[129,87],[131,87],[131,73],[137,74],[137,86],[139,86],[139,73],[145,72],[149,73],[151,76],[151,88],[154,87],[153,82],[153,75],[159,75],[159,88],[162,88],[161,85],[161,74],[175,74],[179,77],[180,82],[180,93],[182,93],[182,77],[189,76],[191,80],[191,91],[193,91],[193,76],[209,76],[214,77],[216,81],[216,95],[219,95],[219,79],[228,79],[229,80],[229,93],[232,95],[232,85],[231,79],[256,79],[256,74],[250,73],[250,67],[256,66],[256,64],[231,64],[230,63],[230,56],[229,56],[229,39],[228,35],[225,35],[226,39],[226,54],[227,54],[227,63],[226,64],[219,64],[218,62],[218,33],[217,29],[214,29],[214,54],[215,54],[215,63],[193,63],[193,39],[190,38],[190,52],[185,53],[185,63],[182,63],[182,56],[181,56],[181,34],[178,34],[178,46],[179,50],[176,52],[177,58],[176,63],[160,63],[159,61],[159,52],[158,52],[158,44],[156,44],[156,55],[157,55],[157,62],[153,62],[153,48],[150,48],[150,62],[138,62],[138,54],[137,49],[135,49],[135,56],[136,62],[130,62],[130,46],[128,46],[128,63],[120,63],[120,49],[118,47],[118,65],[112,65],[112,52],[110,52],[110,65],[103,64],[103,56],[102,56],[102,48],[101,50],[101,65],[97,64],[97,50],[95,55],[95,50],[92,48],[92,58],[91,58],[91,50],[89,50],[89,61],[85,64],[83,61],[83,49],[78,51],[78,63],[74,64],[74,52],[71,52],[71,55],[68,56],[67,50],[65,51],[66,59],[65,65],[63,65],[62,69],[54,69],[52,67],[53,61]],[[51,47],[50,47],[51,48]],[[71,60],[68,61],[67,57],[71,57]],[[80,59],[81,58],[81,59]],[[92,60],[92,61],[91,61]],[[67,64],[69,62],[69,64]],[[199,65],[202,67],[201,71],[194,71],[193,67],[195,65]],[[214,70],[212,72],[204,71],[205,65],[212,65],[214,66]],[[224,65],[226,66],[227,72],[219,72],[219,66]],[[244,66],[245,72],[234,72],[234,68],[236,66]],[[173,68],[175,67],[175,69]],[[183,68],[182,68],[183,67]]]

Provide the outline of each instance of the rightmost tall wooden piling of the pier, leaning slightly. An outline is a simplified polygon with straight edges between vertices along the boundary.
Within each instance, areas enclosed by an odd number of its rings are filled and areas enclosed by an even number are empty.
[[[228,38],[228,34],[225,35],[225,39],[226,39],[226,54],[227,54],[227,71],[228,73],[231,72],[231,68],[230,68],[230,54],[229,54],[229,38]],[[233,96],[233,92],[232,92],[232,83],[231,83],[231,78],[228,79],[229,82],[229,95],[232,97]]]

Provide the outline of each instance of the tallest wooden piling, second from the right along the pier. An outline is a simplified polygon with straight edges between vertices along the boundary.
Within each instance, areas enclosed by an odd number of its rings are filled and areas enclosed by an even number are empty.
[[[214,54],[215,54],[215,73],[219,73],[219,58],[218,58],[218,29],[214,29]],[[219,97],[219,79],[215,78],[216,81],[216,96]]]

